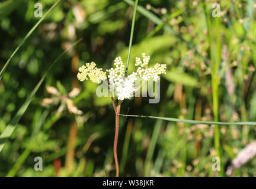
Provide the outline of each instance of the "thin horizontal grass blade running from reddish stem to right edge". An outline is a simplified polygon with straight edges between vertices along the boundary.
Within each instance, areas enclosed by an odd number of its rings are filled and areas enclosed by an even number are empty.
[[[213,121],[202,121],[202,120],[165,118],[165,117],[157,117],[157,116],[124,115],[124,114],[119,114],[119,115],[120,116],[137,117],[137,118],[162,119],[162,120],[168,120],[170,122],[183,122],[183,123],[201,124],[201,125],[256,125],[256,122],[213,122]]]

